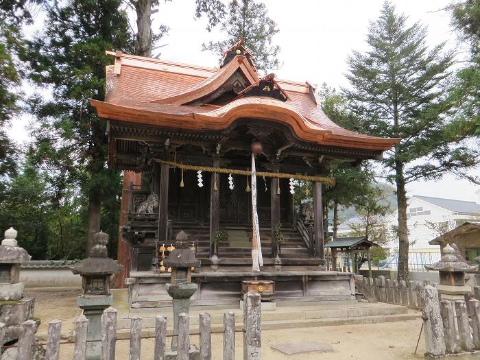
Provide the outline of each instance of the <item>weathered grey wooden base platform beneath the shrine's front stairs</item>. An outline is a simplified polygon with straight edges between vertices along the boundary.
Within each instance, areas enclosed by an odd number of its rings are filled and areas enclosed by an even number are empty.
[[[169,280],[169,273],[130,272],[127,280],[130,311],[171,307],[171,297],[165,289]],[[238,307],[242,280],[274,281],[277,306],[285,303],[355,301],[355,282],[350,273],[300,267],[280,272],[231,268],[214,272],[207,268],[192,274],[198,290],[191,298],[191,307]]]

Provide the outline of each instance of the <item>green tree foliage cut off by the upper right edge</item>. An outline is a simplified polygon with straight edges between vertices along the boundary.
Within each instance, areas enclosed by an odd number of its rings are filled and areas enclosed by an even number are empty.
[[[468,49],[466,66],[457,73],[452,91],[462,125],[457,131],[480,136],[480,0],[455,3],[451,10],[452,25]]]

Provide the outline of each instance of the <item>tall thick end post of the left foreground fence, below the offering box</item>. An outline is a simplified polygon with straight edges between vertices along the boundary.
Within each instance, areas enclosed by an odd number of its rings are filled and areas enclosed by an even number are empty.
[[[243,360],[260,360],[262,348],[261,296],[248,292],[243,302]]]

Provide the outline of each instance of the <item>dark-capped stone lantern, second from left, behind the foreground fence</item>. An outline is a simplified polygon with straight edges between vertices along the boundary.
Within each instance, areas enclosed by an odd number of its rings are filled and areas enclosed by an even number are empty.
[[[112,304],[110,276],[121,272],[122,266],[108,258],[108,234],[103,231],[93,235],[93,248],[88,258],[71,268],[73,274],[82,276],[82,295],[77,298],[77,306],[88,319],[87,340],[101,339],[101,314]],[[87,343],[87,359],[100,359],[101,343]]]

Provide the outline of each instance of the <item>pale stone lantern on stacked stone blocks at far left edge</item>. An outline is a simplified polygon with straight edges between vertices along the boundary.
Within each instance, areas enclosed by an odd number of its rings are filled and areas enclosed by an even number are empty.
[[[19,339],[21,324],[34,315],[34,298],[23,298],[23,283],[19,283],[22,263],[30,260],[27,250],[19,248],[16,230],[5,231],[0,245],[0,323],[5,324],[3,344]],[[3,345],[3,344],[0,344]]]

